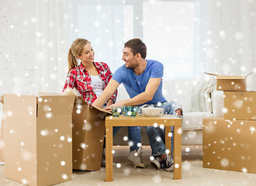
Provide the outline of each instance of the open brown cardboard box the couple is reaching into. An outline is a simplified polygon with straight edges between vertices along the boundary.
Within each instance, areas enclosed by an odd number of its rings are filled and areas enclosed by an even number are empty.
[[[105,117],[110,113],[76,97],[73,110],[73,168],[98,171],[101,167]]]

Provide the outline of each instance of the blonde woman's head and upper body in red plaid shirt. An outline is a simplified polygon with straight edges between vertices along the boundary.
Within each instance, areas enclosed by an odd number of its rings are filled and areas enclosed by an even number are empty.
[[[102,94],[112,77],[109,66],[103,62],[94,62],[94,55],[95,52],[88,40],[79,38],[74,41],[68,52],[69,73],[63,88],[63,91],[67,86],[76,88],[89,105]],[[81,60],[81,64],[78,65],[77,59]],[[107,106],[116,102],[116,95],[117,91],[109,99]]]

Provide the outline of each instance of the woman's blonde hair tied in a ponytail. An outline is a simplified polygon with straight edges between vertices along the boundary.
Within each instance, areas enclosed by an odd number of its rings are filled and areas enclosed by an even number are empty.
[[[82,38],[78,38],[72,43],[71,48],[68,51],[68,57],[67,57],[68,72],[71,71],[72,68],[78,66],[77,56],[81,54],[81,51],[84,49],[87,43],[90,43],[90,42]]]

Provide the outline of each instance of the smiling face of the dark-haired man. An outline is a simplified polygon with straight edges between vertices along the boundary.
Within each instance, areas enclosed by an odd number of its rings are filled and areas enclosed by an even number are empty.
[[[123,48],[122,60],[124,60],[126,68],[134,68],[139,65],[137,61],[137,55],[133,55],[131,49],[127,47]]]

